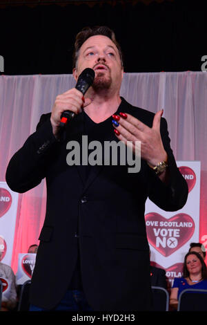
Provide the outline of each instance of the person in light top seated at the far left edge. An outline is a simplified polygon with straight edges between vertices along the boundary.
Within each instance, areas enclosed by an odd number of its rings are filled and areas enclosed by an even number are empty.
[[[0,252],[1,261],[2,252]],[[0,262],[0,280],[6,290],[2,293],[1,311],[13,310],[17,306],[16,278],[10,266]]]

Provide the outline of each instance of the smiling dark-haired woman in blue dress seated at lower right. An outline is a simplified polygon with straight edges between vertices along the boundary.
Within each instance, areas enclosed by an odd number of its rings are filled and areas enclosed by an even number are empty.
[[[184,259],[183,277],[174,279],[170,294],[170,307],[177,309],[180,293],[185,289],[207,290],[207,269],[204,259],[197,252],[188,252]]]

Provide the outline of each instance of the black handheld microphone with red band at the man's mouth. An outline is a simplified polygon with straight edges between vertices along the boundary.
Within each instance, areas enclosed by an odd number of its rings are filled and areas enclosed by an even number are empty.
[[[95,71],[91,68],[84,69],[81,74],[79,75],[79,78],[77,80],[77,84],[75,88],[78,91],[81,91],[83,95],[85,95],[86,91],[88,91],[88,88],[92,85],[93,80],[95,78]],[[59,124],[60,127],[64,127],[69,119],[72,119],[75,117],[75,113],[72,111],[64,111],[61,114],[61,122]]]

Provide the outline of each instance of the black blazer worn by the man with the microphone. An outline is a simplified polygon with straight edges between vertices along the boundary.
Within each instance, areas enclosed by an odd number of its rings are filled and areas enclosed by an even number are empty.
[[[154,113],[123,98],[120,111],[152,126]],[[149,310],[146,198],[163,210],[175,211],[188,196],[170,149],[166,120],[161,118],[161,138],[168,153],[168,186],[144,160],[137,174],[129,174],[121,165],[91,167],[84,183],[83,168],[66,163],[66,143],[80,142],[82,134],[83,113],[68,124],[59,141],[53,136],[50,114],[42,115],[37,131],[8,165],[6,180],[16,192],[26,192],[46,177],[46,219],[39,236],[31,303],[43,308],[59,303],[70,284],[79,245],[83,290],[94,310]],[[106,140],[117,141],[113,127]]]

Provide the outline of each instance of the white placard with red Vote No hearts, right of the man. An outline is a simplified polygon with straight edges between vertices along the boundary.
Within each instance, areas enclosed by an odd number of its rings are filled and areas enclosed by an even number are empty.
[[[183,261],[190,243],[199,241],[200,162],[177,161],[188,183],[188,200],[181,210],[166,212],[149,199],[146,201],[146,231],[152,265],[166,270],[172,285],[181,277]]]

